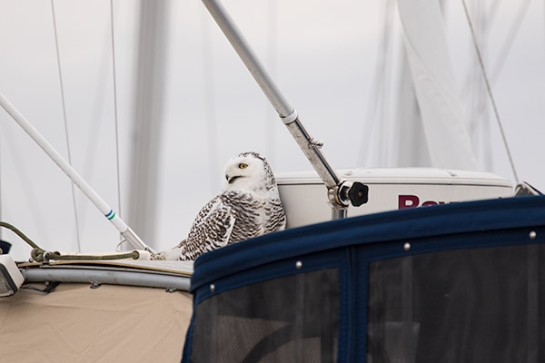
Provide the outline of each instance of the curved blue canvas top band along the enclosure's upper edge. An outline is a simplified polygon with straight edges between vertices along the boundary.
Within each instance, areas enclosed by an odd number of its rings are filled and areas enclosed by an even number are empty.
[[[544,223],[545,196],[443,204],[329,221],[204,253],[195,261],[191,289],[275,260],[335,247]]]

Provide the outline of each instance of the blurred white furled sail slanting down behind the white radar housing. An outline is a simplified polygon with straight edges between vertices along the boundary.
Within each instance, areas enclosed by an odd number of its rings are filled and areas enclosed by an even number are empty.
[[[431,166],[477,170],[439,2],[398,0],[398,7]]]

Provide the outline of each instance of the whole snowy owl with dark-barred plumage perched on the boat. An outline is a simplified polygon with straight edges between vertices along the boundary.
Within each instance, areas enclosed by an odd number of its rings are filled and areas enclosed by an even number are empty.
[[[195,260],[209,250],[282,231],[285,224],[271,166],[257,152],[242,152],[225,165],[223,191],[199,211],[187,239],[154,260]]]

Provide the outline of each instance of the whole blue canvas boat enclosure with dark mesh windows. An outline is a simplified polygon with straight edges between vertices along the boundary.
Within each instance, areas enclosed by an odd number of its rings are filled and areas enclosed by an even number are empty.
[[[195,261],[183,362],[545,361],[545,197],[330,221]]]

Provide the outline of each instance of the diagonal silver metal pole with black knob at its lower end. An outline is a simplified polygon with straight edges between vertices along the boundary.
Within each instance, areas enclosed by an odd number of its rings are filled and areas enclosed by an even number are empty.
[[[367,202],[368,188],[360,182],[343,181],[332,166],[327,162],[320,149],[322,142],[318,142],[305,130],[299,119],[299,114],[289,103],[280,89],[272,81],[271,76],[265,71],[243,34],[234,24],[233,19],[227,13],[223,5],[216,0],[203,0],[203,4],[213,16],[216,24],[222,29],[234,50],[239,55],[246,68],[253,75],[253,79],[259,84],[263,93],[269,99],[276,110],[282,123],[286,125],[293,139],[299,145],[304,155],[311,162],[312,167],[318,173],[328,190],[329,201],[332,205],[332,218],[346,217],[346,211],[351,204],[360,206]]]

